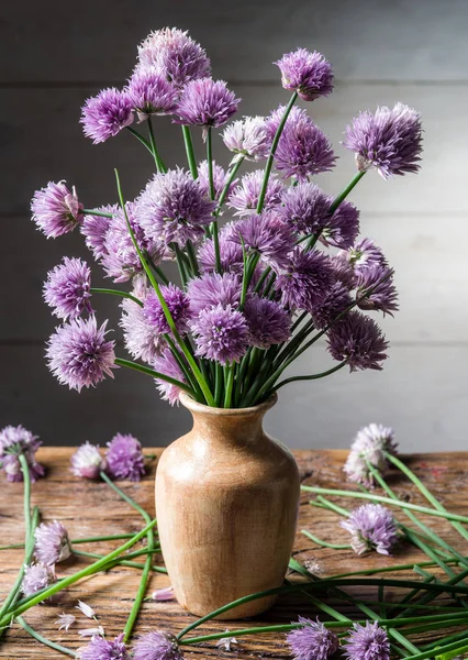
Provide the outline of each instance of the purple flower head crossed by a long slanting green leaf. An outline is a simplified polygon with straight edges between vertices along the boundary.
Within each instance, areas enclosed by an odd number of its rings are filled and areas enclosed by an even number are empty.
[[[179,334],[185,334],[188,330],[188,321],[190,319],[190,301],[189,297],[182,289],[174,284],[160,287],[160,293],[170,311],[174,322]],[[165,334],[170,332],[169,324],[163,311],[161,304],[155,292],[149,292],[143,308],[143,314],[151,326],[154,326],[156,332]]]

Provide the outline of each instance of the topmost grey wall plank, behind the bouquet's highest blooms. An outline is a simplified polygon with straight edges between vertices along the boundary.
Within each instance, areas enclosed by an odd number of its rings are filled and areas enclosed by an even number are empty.
[[[271,63],[298,46],[323,51],[339,78],[466,80],[464,0],[265,2],[83,0],[70,21],[53,0],[2,8],[0,80],[123,80],[137,43],[165,25],[188,29],[208,50],[218,77],[277,80]],[[57,56],[59,53],[59,56]],[[104,56],[103,56],[104,55]]]

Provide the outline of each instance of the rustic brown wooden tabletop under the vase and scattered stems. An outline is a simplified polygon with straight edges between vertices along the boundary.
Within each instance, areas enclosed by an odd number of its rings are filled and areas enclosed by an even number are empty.
[[[38,452],[38,460],[47,469],[47,476],[33,485],[32,502],[41,508],[43,520],[60,520],[69,530],[70,538],[85,538],[98,535],[115,535],[124,532],[136,532],[142,527],[138,515],[129,507],[111,488],[101,482],[89,482],[74,477],[69,472],[69,459],[73,449],[47,448]],[[161,450],[157,450],[159,454]],[[146,449],[146,453],[151,450]],[[346,452],[334,451],[298,451],[296,458],[304,484],[314,484],[326,487],[343,488],[344,475],[342,466]],[[468,453],[438,453],[438,454],[414,454],[406,457],[409,464],[415,473],[424,481],[447,508],[454,513],[468,513],[468,487],[467,461]],[[119,485],[154,515],[154,474],[156,461],[149,463],[148,474],[140,483],[120,482]],[[425,504],[415,488],[397,473],[389,475],[389,483],[395,488],[400,496],[416,504]],[[3,477],[0,482],[0,544],[22,542],[23,540],[23,488],[22,484],[7,483]],[[399,548],[393,558],[386,558],[376,553],[357,557],[348,550],[332,550],[315,546],[300,534],[301,529],[310,529],[317,537],[335,543],[346,542],[347,536],[338,526],[339,517],[324,509],[310,506],[310,497],[302,494],[299,516],[298,535],[293,557],[301,563],[312,566],[312,570],[321,576],[355,571],[360,569],[390,566],[392,563],[411,563],[423,561],[424,557],[410,546]],[[348,498],[334,502],[344,507],[353,508],[358,505],[357,501]],[[398,518],[405,520],[401,510]],[[464,543],[452,526],[443,519],[421,516],[430,522],[433,529],[443,535],[444,538],[458,550],[468,554],[466,542]],[[122,541],[100,542],[89,546],[80,546],[80,549],[107,553],[118,547]],[[465,547],[464,547],[465,546]],[[0,552],[0,600],[4,597],[14,581],[21,563],[20,550],[5,550]],[[58,575],[76,572],[90,560],[74,558],[58,565]],[[155,563],[161,564],[161,558],[156,557]],[[431,571],[437,573],[434,569]],[[438,574],[438,573],[437,573]],[[387,576],[392,575],[386,574]],[[417,579],[411,571],[399,573],[399,578]],[[60,594],[59,601],[53,605],[40,605],[25,614],[25,619],[44,636],[54,641],[76,649],[82,646],[78,636],[79,628],[89,627],[92,622],[78,616],[78,625],[74,625],[68,631],[58,631],[55,620],[62,612],[75,613],[78,598],[83,600],[94,607],[108,637],[114,637],[124,628],[134,595],[140,581],[140,571],[130,568],[115,568],[111,572],[94,575],[81,583],[69,587]],[[153,574],[148,593],[167,586],[169,580],[164,574]],[[370,588],[370,587],[369,587]],[[376,591],[363,593],[363,596],[371,596],[376,600]],[[386,592],[386,601],[394,601],[394,592]],[[398,594],[402,597],[402,593]],[[327,601],[337,606],[342,612],[348,613],[349,606],[334,598]],[[317,612],[297,595],[282,597],[278,604],[266,615],[255,619],[253,625],[267,623],[290,623],[298,615],[316,616]],[[144,634],[157,628],[177,632],[188,623],[193,620],[189,614],[182,610],[176,602],[144,604],[135,632]],[[242,626],[250,625],[243,622]],[[236,622],[216,623],[210,622],[199,628],[197,634],[209,634],[223,631],[226,627],[235,629]],[[426,639],[430,639],[426,637]],[[203,647],[186,647],[186,658],[289,658],[289,650],[285,644],[285,636],[270,634],[261,636],[244,637],[236,648],[235,653],[227,653],[215,647],[214,642]],[[19,625],[14,625],[8,631],[4,642],[0,646],[0,658],[59,658],[60,653],[48,649],[23,631]]]

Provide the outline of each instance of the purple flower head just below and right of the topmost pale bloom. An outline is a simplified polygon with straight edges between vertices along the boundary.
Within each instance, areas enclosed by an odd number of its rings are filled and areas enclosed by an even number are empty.
[[[192,80],[182,90],[174,121],[205,130],[222,127],[237,112],[239,102],[224,80]]]

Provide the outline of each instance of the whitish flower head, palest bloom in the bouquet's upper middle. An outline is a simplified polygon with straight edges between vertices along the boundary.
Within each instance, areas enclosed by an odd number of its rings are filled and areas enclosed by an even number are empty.
[[[269,154],[271,136],[265,117],[244,117],[224,129],[223,142],[247,161],[261,161]]]

